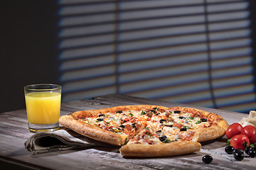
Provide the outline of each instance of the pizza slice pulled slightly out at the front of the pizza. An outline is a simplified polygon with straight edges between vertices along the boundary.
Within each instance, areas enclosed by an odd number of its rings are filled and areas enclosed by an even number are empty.
[[[161,126],[159,126],[161,127]],[[171,157],[191,154],[201,149],[199,142],[181,140],[176,135],[147,126],[119,151],[124,157]]]

